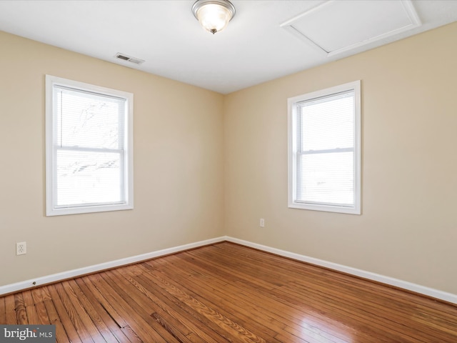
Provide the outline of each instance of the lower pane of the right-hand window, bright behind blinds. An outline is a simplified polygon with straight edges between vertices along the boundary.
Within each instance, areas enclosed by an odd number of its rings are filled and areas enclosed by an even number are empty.
[[[305,154],[299,163],[299,202],[354,204],[353,152]]]

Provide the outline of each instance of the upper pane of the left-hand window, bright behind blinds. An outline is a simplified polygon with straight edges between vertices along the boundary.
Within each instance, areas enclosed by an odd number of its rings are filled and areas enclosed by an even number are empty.
[[[56,144],[121,149],[124,106],[124,99],[56,88]]]

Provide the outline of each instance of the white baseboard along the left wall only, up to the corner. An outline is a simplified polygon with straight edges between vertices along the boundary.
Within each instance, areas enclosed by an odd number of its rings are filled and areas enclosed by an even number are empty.
[[[74,277],[79,277],[85,274],[91,274],[94,272],[100,272],[101,270],[111,269],[115,267],[125,266],[126,264],[132,264],[135,262],[146,261],[147,259],[154,259],[155,257],[161,257],[169,254],[175,254],[176,252],[182,252],[188,249],[194,249],[198,247],[203,247],[204,245],[214,244],[222,242],[225,240],[225,237],[219,237],[214,239],[207,239],[205,241],[184,244],[179,247],[172,247],[169,249],[158,250],[156,252],[149,252],[146,254],[136,255],[132,257],[126,257],[125,259],[116,259],[115,261],[105,262],[101,264],[94,264],[93,266],[83,267],[79,269],[69,270],[68,272],[61,272],[57,274],[47,275],[45,277],[37,277],[36,279],[30,279],[22,282],[16,282],[15,284],[6,284],[5,286],[0,286],[0,296],[2,294],[9,294],[13,292],[21,291],[22,289],[28,289],[31,287],[37,287],[43,284],[50,284],[52,282],[59,282],[65,279],[71,279]]]

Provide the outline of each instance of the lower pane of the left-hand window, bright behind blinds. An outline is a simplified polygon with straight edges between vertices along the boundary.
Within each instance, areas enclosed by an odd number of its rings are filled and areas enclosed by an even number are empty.
[[[118,153],[59,149],[56,205],[124,202],[120,166]]]

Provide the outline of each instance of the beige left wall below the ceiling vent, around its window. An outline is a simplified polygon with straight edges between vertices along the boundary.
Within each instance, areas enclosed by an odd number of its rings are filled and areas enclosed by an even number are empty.
[[[0,49],[0,286],[224,233],[221,94],[2,32]],[[134,210],[45,217],[45,74],[134,93]]]

